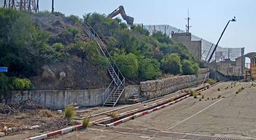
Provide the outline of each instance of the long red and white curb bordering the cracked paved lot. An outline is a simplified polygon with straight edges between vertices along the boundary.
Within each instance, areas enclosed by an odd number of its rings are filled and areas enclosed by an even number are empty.
[[[183,99],[185,99],[185,98],[188,98],[189,96],[190,96],[190,94],[187,95],[187,96],[184,96],[184,97],[182,97],[182,98],[180,98],[180,99],[177,99],[177,100],[175,100],[175,101],[173,101],[173,102],[170,102],[170,103],[167,103],[167,104],[164,104],[164,105],[155,107],[154,109],[146,110],[146,111],[143,111],[143,112],[140,112],[140,113],[136,113],[136,114],[134,114],[134,115],[132,115],[132,116],[129,116],[129,117],[126,117],[126,118],[117,120],[117,121],[115,121],[114,123],[107,124],[106,126],[108,126],[108,127],[109,127],[109,126],[116,126],[116,125],[121,124],[121,123],[123,123],[123,122],[125,122],[125,121],[128,121],[128,120],[131,120],[131,119],[140,117],[140,116],[142,116],[142,115],[148,114],[148,113],[153,112],[153,111],[156,111],[156,110],[163,109],[164,107],[167,107],[167,106],[169,106],[169,105],[175,104],[175,103],[177,103],[177,102],[179,102],[179,101],[181,101],[181,100],[183,100]]]

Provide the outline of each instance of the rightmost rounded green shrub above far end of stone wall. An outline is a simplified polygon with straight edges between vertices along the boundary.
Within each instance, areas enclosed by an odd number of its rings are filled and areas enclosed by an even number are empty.
[[[182,71],[184,75],[197,75],[199,72],[199,66],[197,63],[193,63],[189,60],[183,60]]]

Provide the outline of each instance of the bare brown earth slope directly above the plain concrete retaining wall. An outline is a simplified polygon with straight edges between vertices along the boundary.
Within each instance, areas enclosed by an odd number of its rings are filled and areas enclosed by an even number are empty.
[[[105,68],[99,68],[87,61],[56,62],[48,65],[56,78],[42,78],[42,69],[38,69],[37,76],[31,78],[34,90],[82,90],[107,87],[112,79]],[[66,76],[60,80],[60,72]]]

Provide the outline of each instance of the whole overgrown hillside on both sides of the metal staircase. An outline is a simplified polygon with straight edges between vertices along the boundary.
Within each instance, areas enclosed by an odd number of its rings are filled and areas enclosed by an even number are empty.
[[[160,32],[130,30],[120,19],[98,13],[83,18],[106,44],[127,85],[198,73],[186,46]],[[0,19],[0,65],[9,70],[0,73],[1,91],[96,89],[112,81],[107,59],[76,16],[0,8]]]

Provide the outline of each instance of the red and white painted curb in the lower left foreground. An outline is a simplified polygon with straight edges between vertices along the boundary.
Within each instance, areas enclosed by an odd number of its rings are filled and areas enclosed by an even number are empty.
[[[64,134],[64,133],[68,133],[68,132],[71,132],[71,131],[74,131],[74,130],[78,130],[78,129],[82,128],[82,126],[83,126],[82,124],[81,125],[76,125],[76,126],[64,128],[62,130],[50,132],[50,133],[47,133],[47,134],[42,134],[42,135],[38,135],[38,136],[35,136],[35,137],[27,138],[25,140],[41,140],[41,139],[52,137],[54,135]]]

